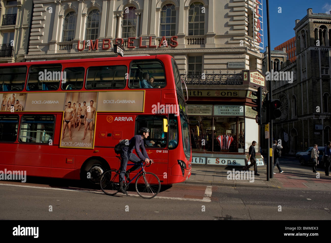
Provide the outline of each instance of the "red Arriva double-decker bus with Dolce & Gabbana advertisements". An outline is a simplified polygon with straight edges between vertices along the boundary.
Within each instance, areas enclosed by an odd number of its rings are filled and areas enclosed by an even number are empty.
[[[0,98],[1,171],[98,183],[120,166],[114,146],[147,127],[148,171],[162,184],[190,177],[185,98],[169,55],[0,64]]]

